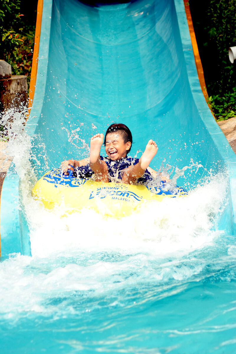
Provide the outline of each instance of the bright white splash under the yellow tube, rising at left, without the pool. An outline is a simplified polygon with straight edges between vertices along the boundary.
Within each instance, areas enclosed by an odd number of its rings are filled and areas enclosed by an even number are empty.
[[[75,249],[110,249],[142,250],[162,257],[173,252],[195,250],[211,242],[218,234],[214,224],[228,202],[224,173],[216,176],[209,173],[206,182],[191,190],[188,196],[166,198],[162,202],[145,202],[139,212],[120,220],[104,219],[86,208],[65,217],[61,217],[61,210],[48,211],[31,196],[31,188],[36,182],[31,161],[37,164],[38,160],[31,153],[34,137],[30,138],[23,130],[24,114],[25,111],[14,114],[11,129],[8,124],[8,131],[11,131],[8,154],[13,156],[16,171],[22,180],[22,204],[30,225],[33,256],[48,257]],[[7,114],[3,122],[5,124],[6,118]],[[181,171],[176,169],[174,183],[185,170],[194,172],[199,168],[202,168],[200,164],[191,161]],[[170,169],[171,166],[167,166],[165,173]]]

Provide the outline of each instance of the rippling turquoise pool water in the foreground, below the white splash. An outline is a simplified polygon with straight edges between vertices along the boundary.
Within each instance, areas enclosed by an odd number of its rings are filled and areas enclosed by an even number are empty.
[[[233,353],[235,239],[0,264],[2,353]]]

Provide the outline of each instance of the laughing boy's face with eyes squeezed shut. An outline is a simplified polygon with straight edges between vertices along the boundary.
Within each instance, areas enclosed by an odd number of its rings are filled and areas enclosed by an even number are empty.
[[[106,136],[105,150],[109,159],[116,161],[126,156],[131,147],[131,142],[124,143],[119,131],[108,133]]]

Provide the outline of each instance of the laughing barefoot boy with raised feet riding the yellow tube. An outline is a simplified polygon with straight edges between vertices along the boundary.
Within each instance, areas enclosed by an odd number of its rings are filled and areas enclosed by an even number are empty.
[[[103,134],[96,134],[90,141],[90,157],[84,160],[66,160],[61,164],[62,172],[73,170],[74,176],[81,178],[92,177],[95,181],[119,182],[126,184],[145,183],[156,176],[157,172],[149,167],[157,153],[157,145],[149,140],[140,159],[127,158],[132,146],[132,134],[124,124],[112,124],[105,138],[107,157],[100,156],[103,144]],[[161,179],[167,181],[166,177]]]

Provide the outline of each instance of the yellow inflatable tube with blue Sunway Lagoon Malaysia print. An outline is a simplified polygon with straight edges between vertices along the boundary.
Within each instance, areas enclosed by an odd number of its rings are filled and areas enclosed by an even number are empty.
[[[163,186],[163,185],[162,185]],[[145,185],[94,182],[61,175],[61,170],[47,172],[35,184],[32,194],[47,209],[61,206],[63,212],[77,212],[90,208],[103,216],[121,218],[137,211],[147,200],[162,201],[166,197],[188,194],[176,186],[173,191]]]

